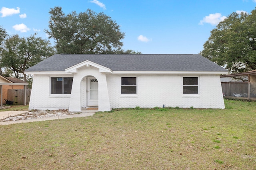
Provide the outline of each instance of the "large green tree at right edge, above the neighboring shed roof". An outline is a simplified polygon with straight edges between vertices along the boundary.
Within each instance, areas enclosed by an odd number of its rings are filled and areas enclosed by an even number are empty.
[[[211,31],[200,54],[233,73],[256,69],[256,10],[230,14]]]

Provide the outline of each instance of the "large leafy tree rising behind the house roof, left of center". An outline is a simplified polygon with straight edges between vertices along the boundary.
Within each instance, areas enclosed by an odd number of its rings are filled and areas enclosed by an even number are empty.
[[[50,10],[49,30],[58,53],[113,53],[121,49],[124,33],[120,25],[103,13],[92,10],[65,15],[61,7]]]

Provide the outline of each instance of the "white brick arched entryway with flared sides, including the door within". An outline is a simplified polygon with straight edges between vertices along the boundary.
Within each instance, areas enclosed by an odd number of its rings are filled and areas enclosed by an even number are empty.
[[[69,111],[98,107],[99,111],[110,111],[106,74],[98,68],[84,66],[74,74]]]

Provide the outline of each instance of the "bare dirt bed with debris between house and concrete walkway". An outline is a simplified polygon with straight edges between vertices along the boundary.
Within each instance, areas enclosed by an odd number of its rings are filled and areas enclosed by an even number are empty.
[[[52,110],[52,111],[36,110],[36,111],[29,111],[27,113],[22,113],[20,115],[6,117],[4,119],[1,119],[0,122],[36,119],[36,118],[42,118],[42,117],[53,117],[53,116],[62,116],[62,115],[73,115],[73,114],[79,114],[79,113],[69,112],[68,110]]]

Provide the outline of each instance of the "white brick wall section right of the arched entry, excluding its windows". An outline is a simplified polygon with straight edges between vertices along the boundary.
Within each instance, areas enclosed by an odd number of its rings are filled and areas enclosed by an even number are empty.
[[[122,95],[121,76],[137,76],[138,94]],[[199,94],[182,94],[182,76],[198,76]],[[111,108],[191,107],[224,108],[220,76],[167,74],[107,74]]]

